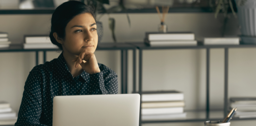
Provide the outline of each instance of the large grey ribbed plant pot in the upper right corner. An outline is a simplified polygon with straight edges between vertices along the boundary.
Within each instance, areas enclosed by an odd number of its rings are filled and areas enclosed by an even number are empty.
[[[256,0],[236,0],[242,36],[256,37]]]

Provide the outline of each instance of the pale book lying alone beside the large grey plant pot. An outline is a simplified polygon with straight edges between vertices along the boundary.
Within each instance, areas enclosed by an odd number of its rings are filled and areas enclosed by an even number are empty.
[[[204,38],[204,45],[239,45],[238,37]]]

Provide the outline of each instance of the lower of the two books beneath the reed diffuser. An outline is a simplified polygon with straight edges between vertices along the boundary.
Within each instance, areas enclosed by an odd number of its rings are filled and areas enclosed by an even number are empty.
[[[196,40],[161,40],[161,41],[149,41],[145,39],[145,43],[150,46],[197,46]]]

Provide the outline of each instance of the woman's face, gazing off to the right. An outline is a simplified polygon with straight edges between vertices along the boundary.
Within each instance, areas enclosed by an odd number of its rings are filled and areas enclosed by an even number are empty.
[[[63,51],[80,55],[83,50],[95,52],[98,44],[96,22],[90,13],[75,16],[66,26],[66,37],[62,43]]]

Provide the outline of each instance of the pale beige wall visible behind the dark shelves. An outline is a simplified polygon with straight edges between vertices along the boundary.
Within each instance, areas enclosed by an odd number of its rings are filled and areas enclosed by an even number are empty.
[[[125,14],[111,14],[116,19],[118,42],[142,42],[146,31],[156,31],[160,19],[157,14],[129,14],[131,28]],[[22,43],[27,34],[47,34],[51,15],[0,15],[0,31],[8,32],[12,43]],[[102,42],[112,42],[108,16],[103,16]],[[171,13],[166,17],[169,31],[192,31],[197,40],[220,37],[223,17],[214,19],[212,13]],[[238,35],[237,19],[231,17],[225,35]],[[121,82],[120,51],[96,51],[97,61],[112,68]],[[256,48],[232,48],[229,51],[229,97],[255,97]],[[42,63],[42,52],[40,53]],[[47,52],[47,61],[58,58],[59,53]],[[138,55],[138,51],[137,51]],[[224,49],[210,51],[210,104],[211,109],[224,106]],[[35,66],[34,52],[0,53],[0,100],[11,103],[18,112],[26,78]],[[132,51],[129,51],[128,83],[132,92]],[[138,61],[138,59],[137,59]],[[138,73],[137,73],[138,75]],[[138,77],[137,77],[138,79]],[[138,82],[138,81],[137,81]],[[145,50],[143,51],[143,90],[179,90],[185,94],[186,110],[205,108],[206,50]],[[121,86],[120,86],[121,87]],[[119,92],[121,90],[119,89]],[[240,125],[242,121],[234,121]],[[245,121],[244,121],[245,122]],[[246,121],[247,122],[247,121]],[[256,121],[248,121],[248,125]],[[168,123],[160,125],[202,125],[202,123]],[[242,123],[241,123],[242,124]],[[158,124],[145,124],[153,126]],[[232,124],[233,125],[233,124]]]

